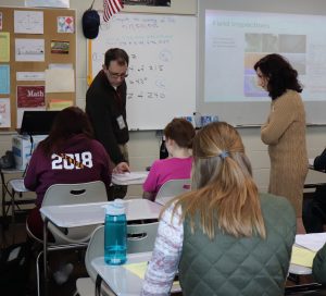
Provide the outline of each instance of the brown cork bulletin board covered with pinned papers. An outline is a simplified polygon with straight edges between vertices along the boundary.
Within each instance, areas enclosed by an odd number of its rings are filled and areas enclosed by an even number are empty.
[[[0,7],[0,131],[24,110],[74,106],[75,89],[75,10]]]

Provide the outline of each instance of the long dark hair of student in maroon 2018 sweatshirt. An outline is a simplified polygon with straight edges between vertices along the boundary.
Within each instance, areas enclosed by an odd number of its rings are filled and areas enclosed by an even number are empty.
[[[93,137],[91,124],[87,114],[78,107],[63,109],[54,119],[49,136],[39,144],[46,156],[62,152],[60,149],[74,135],[84,134]]]

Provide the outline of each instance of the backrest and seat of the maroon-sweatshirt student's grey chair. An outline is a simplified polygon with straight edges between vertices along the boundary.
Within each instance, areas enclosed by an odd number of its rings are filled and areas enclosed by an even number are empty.
[[[64,206],[108,201],[106,188],[102,181],[78,184],[54,184],[45,194],[42,207]],[[62,231],[49,222],[48,229],[52,233],[55,244],[88,242],[98,225],[71,227]]]

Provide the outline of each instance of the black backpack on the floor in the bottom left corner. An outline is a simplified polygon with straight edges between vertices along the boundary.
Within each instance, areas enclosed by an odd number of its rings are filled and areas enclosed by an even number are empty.
[[[0,250],[1,295],[26,295],[29,274],[29,246],[14,244]]]

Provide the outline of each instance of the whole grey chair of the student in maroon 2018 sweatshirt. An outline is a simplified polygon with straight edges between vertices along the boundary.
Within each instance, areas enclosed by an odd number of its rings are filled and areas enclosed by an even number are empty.
[[[108,201],[108,196],[106,196],[105,185],[101,181],[79,183],[79,184],[54,184],[47,189],[42,201],[42,207],[102,202],[102,201]],[[90,236],[97,226],[98,225],[87,225],[82,227],[60,229],[57,227],[51,222],[48,222],[48,230],[53,235],[54,243],[51,244],[49,248],[47,248],[46,246],[43,249],[52,251],[57,249],[86,247],[87,242],[90,239]],[[39,238],[33,235],[33,233],[28,229],[27,223],[26,223],[26,231],[30,237],[43,244],[42,240],[40,240]],[[47,261],[46,251],[40,251],[36,259],[38,295],[40,295],[39,258],[41,254],[43,254],[45,257],[45,264]]]

